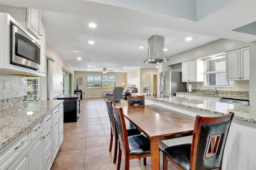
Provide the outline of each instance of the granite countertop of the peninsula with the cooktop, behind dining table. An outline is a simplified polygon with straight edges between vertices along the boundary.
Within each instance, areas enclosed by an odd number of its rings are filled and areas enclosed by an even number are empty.
[[[198,99],[188,99],[185,97],[163,97],[153,98],[146,96],[147,93],[133,93],[132,95],[145,95],[145,98],[162,101],[164,103],[170,103],[172,105],[178,105],[217,115],[225,115],[227,113],[234,112],[234,118],[243,121],[256,123],[256,107],[235,105],[229,103],[220,103],[216,101],[206,101]]]

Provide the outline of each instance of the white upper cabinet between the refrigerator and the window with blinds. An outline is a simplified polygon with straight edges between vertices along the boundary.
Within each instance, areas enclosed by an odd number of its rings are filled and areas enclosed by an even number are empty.
[[[194,59],[182,62],[182,82],[203,82],[204,61]]]

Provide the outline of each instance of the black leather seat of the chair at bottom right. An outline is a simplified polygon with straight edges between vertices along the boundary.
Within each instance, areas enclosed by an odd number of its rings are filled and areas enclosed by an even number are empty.
[[[169,146],[163,148],[162,152],[184,170],[189,170],[191,143]]]

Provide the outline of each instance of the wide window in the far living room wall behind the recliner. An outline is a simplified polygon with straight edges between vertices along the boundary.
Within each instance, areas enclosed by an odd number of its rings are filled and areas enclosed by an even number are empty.
[[[104,89],[110,86],[115,87],[115,76],[88,76],[88,89]]]

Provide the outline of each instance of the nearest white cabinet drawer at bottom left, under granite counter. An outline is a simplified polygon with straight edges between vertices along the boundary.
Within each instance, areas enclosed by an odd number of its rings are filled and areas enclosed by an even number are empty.
[[[0,150],[0,169],[30,144],[29,129]],[[20,151],[20,152],[19,152]]]

